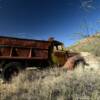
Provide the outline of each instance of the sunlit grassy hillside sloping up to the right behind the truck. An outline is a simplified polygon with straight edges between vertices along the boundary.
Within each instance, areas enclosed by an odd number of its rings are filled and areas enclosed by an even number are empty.
[[[68,47],[67,50],[91,52],[96,56],[100,56],[100,33],[78,41],[76,44]]]

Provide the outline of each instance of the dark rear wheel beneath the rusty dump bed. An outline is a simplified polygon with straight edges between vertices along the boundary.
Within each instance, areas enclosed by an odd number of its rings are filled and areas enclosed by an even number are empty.
[[[20,71],[20,64],[17,62],[8,63],[3,69],[3,78],[10,81],[14,76],[17,76]]]

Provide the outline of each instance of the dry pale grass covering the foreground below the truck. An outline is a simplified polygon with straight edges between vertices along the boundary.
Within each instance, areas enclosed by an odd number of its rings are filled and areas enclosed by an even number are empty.
[[[25,71],[0,84],[1,100],[100,100],[100,71]]]

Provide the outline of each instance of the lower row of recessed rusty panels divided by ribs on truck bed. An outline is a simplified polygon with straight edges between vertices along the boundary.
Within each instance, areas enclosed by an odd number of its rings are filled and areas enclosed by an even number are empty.
[[[42,57],[42,58],[48,58],[48,50],[37,50],[37,49],[22,49],[22,48],[16,48],[12,50],[12,48],[0,48],[0,57]],[[31,51],[30,51],[31,50]]]

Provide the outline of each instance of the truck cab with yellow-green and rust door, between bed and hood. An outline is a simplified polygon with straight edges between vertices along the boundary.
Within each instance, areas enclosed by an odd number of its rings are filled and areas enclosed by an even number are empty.
[[[63,66],[66,62],[66,51],[64,44],[60,41],[53,40],[52,62],[56,66]]]

